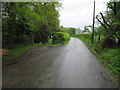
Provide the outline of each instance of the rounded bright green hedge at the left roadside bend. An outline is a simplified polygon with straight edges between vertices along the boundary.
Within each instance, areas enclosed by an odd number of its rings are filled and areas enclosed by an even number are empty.
[[[69,33],[56,32],[53,35],[53,44],[56,44],[56,43],[62,43],[62,44],[64,44],[64,42],[68,41],[68,40],[70,40]]]

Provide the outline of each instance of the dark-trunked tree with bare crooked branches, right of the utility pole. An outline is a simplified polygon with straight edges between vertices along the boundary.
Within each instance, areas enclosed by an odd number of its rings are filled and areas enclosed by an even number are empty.
[[[119,35],[116,35],[120,29],[120,2],[109,2],[107,7],[109,10],[106,14],[103,15],[100,12],[100,16],[97,15],[96,19],[105,28],[104,47],[116,47],[116,44],[118,44],[117,46],[120,45]],[[118,39],[118,43],[115,41],[116,38]]]

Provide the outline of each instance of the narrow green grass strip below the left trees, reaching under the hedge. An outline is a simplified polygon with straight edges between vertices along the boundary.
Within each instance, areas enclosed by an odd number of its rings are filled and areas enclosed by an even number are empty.
[[[13,49],[7,49],[8,52],[2,56],[2,59],[3,61],[13,60],[36,46],[40,46],[40,47],[61,46],[61,45],[67,44],[68,42],[69,41],[65,41],[63,44],[57,43],[57,44],[52,45],[52,39],[49,39],[48,42],[42,43],[42,44],[34,44],[34,45],[19,44],[19,45],[16,45]]]

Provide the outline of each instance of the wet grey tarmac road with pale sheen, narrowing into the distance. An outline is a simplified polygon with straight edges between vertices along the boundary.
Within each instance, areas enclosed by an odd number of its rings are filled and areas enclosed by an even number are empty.
[[[76,38],[61,47],[39,50],[26,60],[3,68],[3,88],[117,87],[95,56]]]

